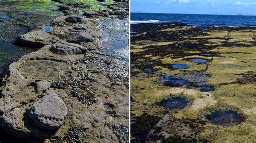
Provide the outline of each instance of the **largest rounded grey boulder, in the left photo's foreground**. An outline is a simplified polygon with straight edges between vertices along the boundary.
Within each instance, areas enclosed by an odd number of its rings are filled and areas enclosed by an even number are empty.
[[[57,130],[68,113],[65,103],[56,95],[46,95],[33,104],[28,116],[33,126],[42,130]]]

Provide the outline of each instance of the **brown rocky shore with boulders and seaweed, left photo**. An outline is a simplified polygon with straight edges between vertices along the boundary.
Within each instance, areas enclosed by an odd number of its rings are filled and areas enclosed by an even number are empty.
[[[128,17],[129,3],[108,7],[76,16],[76,5],[62,6],[66,16],[16,38],[38,51],[11,63],[2,80],[6,132],[30,142],[128,142],[129,63],[102,54],[99,19]]]

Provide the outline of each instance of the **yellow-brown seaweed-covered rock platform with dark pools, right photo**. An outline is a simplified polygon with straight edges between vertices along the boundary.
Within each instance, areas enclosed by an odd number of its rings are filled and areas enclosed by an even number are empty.
[[[256,27],[131,31],[131,142],[252,142]]]

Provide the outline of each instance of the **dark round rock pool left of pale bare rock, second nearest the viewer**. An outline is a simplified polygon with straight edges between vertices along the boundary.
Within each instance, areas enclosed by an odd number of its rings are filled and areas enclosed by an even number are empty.
[[[182,97],[171,97],[163,99],[160,105],[168,109],[184,109],[188,105],[188,101]]]

